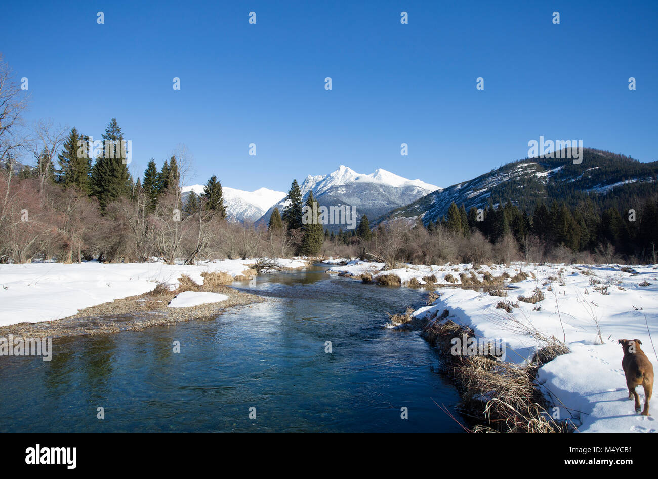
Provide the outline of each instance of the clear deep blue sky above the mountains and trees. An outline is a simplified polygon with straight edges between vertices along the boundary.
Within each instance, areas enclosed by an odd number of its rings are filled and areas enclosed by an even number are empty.
[[[30,1],[1,24],[28,118],[95,138],[117,118],[134,176],[178,143],[191,182],[250,191],[339,164],[449,186],[540,135],[658,159],[655,0]]]

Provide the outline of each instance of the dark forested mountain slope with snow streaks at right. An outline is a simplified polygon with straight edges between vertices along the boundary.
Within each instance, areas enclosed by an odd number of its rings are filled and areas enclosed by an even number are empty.
[[[378,224],[390,218],[422,218],[424,224],[436,222],[447,213],[450,203],[457,206],[484,208],[488,203],[512,203],[532,210],[538,200],[545,203],[566,201],[574,206],[582,199],[605,199],[632,204],[632,198],[656,193],[658,161],[640,163],[630,157],[584,149],[582,163],[570,159],[524,159],[505,164],[445,189],[432,191],[409,205],[382,214],[372,222]],[[621,199],[624,201],[621,201]],[[622,208],[623,209],[623,208]]]

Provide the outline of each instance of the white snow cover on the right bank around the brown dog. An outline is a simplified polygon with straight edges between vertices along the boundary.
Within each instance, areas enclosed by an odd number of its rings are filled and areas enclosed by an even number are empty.
[[[439,299],[413,316],[440,316],[448,309],[448,319],[469,326],[476,337],[503,340],[505,361],[519,364],[530,361],[545,345],[530,331],[564,340],[571,353],[546,363],[537,376],[560,417],[573,418],[580,432],[656,432],[655,419],[638,415],[633,401],[627,399],[622,348],[617,344],[619,339],[639,339],[654,368],[658,366],[649,336],[658,340],[655,266],[623,267],[627,272],[619,265],[512,266],[511,272],[506,266],[482,269],[492,270],[493,276],[501,271],[513,275],[522,269],[534,278],[513,283],[518,289],[507,290],[506,297],[443,289]],[[522,301],[536,290],[542,291],[544,299]],[[511,313],[496,307],[501,301],[508,303]],[[641,387],[638,393],[644,404]],[[652,409],[658,414],[655,406]]]

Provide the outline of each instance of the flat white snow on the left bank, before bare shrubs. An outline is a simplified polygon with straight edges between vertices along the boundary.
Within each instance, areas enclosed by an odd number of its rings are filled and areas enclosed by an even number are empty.
[[[253,275],[256,260],[226,259],[197,265],[163,263],[32,263],[0,265],[0,326],[49,321],[79,309],[153,290],[159,282],[178,286],[182,274],[203,284],[202,272],[226,272],[234,278]],[[303,268],[299,259],[277,259],[281,268]]]

